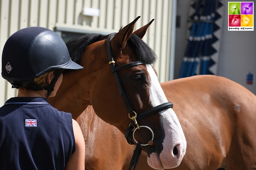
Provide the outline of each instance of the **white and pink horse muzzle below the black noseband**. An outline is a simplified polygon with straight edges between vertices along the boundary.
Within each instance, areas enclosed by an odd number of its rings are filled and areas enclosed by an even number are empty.
[[[186,153],[186,138],[172,109],[163,111],[161,116],[165,137],[161,144],[155,142],[156,152],[150,153],[147,161],[154,169],[175,168],[179,166]],[[162,150],[158,150],[159,147],[163,147]]]

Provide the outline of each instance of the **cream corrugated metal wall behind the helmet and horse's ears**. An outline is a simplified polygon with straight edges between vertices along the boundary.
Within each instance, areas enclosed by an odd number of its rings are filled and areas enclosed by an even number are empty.
[[[0,52],[8,37],[19,29],[40,26],[73,32],[118,32],[137,16],[135,30],[155,21],[143,40],[156,52],[154,64],[161,82],[169,80],[172,0],[0,0]],[[84,7],[100,10],[99,17],[83,16]],[[17,95],[0,78],[0,105]]]

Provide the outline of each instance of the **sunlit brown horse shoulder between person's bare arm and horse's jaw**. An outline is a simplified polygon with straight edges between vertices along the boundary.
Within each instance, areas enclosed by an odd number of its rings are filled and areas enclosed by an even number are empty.
[[[113,125],[100,119],[89,105],[77,118],[85,141],[86,169],[128,169],[135,145]],[[142,153],[137,169],[149,169],[147,154]]]

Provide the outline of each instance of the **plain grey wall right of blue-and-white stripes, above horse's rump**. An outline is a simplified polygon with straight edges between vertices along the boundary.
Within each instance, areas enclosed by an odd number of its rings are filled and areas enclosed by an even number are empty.
[[[228,0],[225,0],[225,6],[227,7],[227,5]],[[256,94],[256,31],[228,31],[227,21],[228,10],[226,8],[221,39],[218,76],[229,78]],[[254,23],[254,29],[255,28]],[[253,74],[253,85],[246,84],[246,74],[248,72]]]

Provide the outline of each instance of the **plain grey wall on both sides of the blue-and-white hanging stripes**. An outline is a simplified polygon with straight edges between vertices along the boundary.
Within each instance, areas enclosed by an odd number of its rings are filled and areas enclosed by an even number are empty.
[[[177,1],[177,15],[181,16],[181,27],[176,29],[175,78],[179,77],[189,35],[188,25],[190,23],[187,22],[187,18],[190,3],[191,1],[188,0]],[[222,17],[224,21],[220,39],[221,47],[219,49],[217,75],[229,78],[256,94],[256,31],[228,31],[228,0],[223,0],[223,5],[224,15]],[[253,85],[246,84],[246,74],[248,72],[254,75]]]

